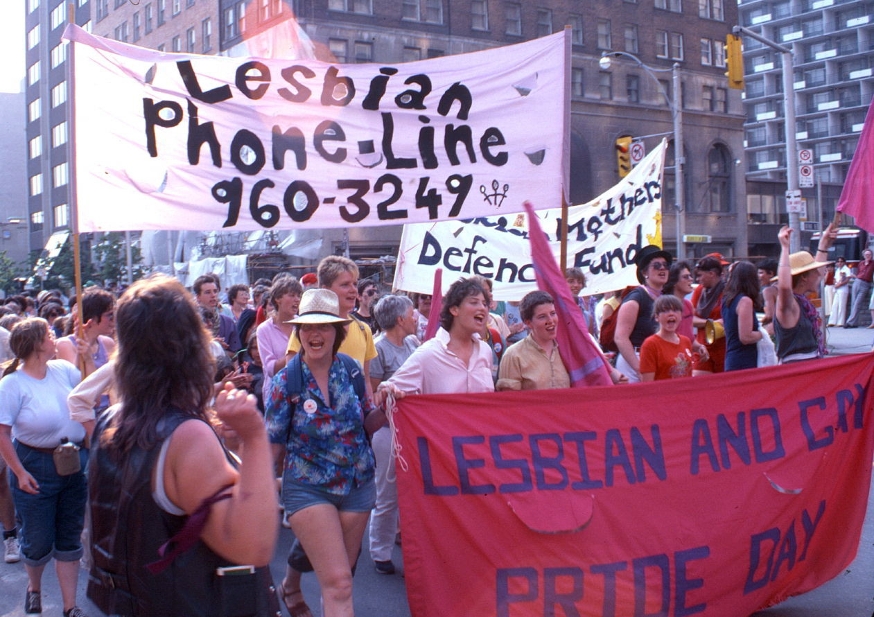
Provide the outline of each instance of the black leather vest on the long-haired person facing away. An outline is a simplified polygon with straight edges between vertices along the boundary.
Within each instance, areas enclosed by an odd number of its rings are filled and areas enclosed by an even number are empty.
[[[161,510],[152,497],[152,470],[163,440],[184,420],[169,411],[157,428],[157,440],[148,451],[135,447],[119,452],[101,446],[101,433],[112,413],[104,414],[94,431],[88,462],[88,497],[91,508],[93,564],[87,596],[104,613],[135,617],[160,615],[221,615],[216,568],[235,565],[220,558],[202,540],[179,555],[159,574],[146,565],[156,561],[158,548],[181,530],[187,516]],[[259,569],[267,572],[267,569]],[[268,572],[267,572],[268,577]],[[267,578],[269,581],[269,578]],[[272,585],[267,583],[267,585]],[[275,614],[265,607],[272,591],[262,586],[251,615]]]

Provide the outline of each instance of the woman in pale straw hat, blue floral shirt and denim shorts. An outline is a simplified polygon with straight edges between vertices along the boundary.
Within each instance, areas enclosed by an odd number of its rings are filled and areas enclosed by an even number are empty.
[[[360,365],[337,353],[351,321],[339,315],[330,289],[303,293],[290,321],[300,352],[276,373],[265,400],[274,454],[285,452],[282,504],[316,570],[325,617],[353,614],[352,567],[376,499],[365,426],[372,433],[385,423],[365,394]],[[309,609],[300,600],[289,613]]]

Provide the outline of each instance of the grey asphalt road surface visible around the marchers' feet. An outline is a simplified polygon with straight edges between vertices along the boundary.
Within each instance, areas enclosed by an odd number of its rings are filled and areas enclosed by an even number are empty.
[[[871,350],[874,329],[829,329],[829,353],[843,355]],[[856,560],[843,574],[812,592],[796,596],[781,604],[760,611],[753,617],[869,617],[874,613],[874,492],[869,495],[862,540]],[[285,558],[292,535],[281,530],[280,544],[271,564],[274,580],[279,583],[285,571]],[[366,537],[365,537],[366,542]],[[357,617],[408,617],[406,588],[403,577],[403,558],[395,547],[393,561],[398,572],[392,576],[378,574],[366,550],[359,560],[355,576],[355,614]],[[43,614],[60,616],[58,579],[51,568],[43,577]],[[24,565],[0,562],[0,617],[24,617],[24,590],[27,577]],[[318,586],[314,574],[306,574],[302,584],[304,597],[313,614],[319,614]],[[85,575],[80,576],[80,606],[88,612],[93,609],[85,598]],[[91,614],[99,614],[94,610]],[[447,615],[446,617],[468,617]],[[470,617],[480,617],[470,616]],[[738,617],[743,617],[739,615]]]

